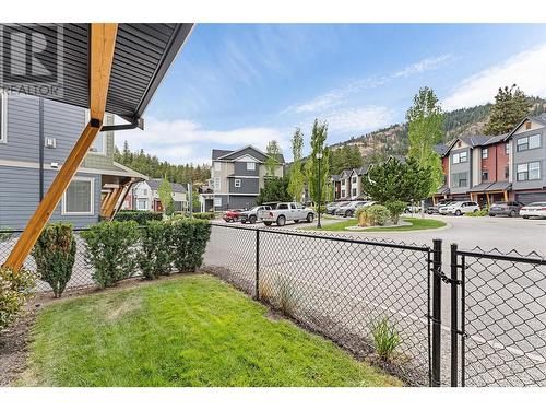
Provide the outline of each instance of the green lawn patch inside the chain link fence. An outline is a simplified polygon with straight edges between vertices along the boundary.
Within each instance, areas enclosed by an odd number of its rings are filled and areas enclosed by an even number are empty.
[[[17,385],[400,386],[205,276],[45,307]]]

